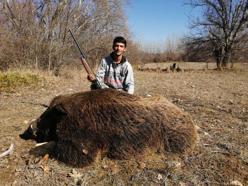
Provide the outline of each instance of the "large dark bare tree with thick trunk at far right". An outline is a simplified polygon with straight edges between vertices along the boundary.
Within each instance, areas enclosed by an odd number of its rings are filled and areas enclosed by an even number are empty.
[[[191,41],[210,50],[218,69],[226,67],[247,38],[248,0],[191,0],[190,5],[203,13],[193,23]]]

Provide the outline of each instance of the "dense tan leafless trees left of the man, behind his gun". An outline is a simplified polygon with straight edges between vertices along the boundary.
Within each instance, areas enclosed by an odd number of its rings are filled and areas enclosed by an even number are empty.
[[[109,52],[114,36],[128,38],[123,0],[3,0],[0,2],[0,68],[59,68],[79,53],[89,63]],[[132,48],[132,47],[131,47]]]

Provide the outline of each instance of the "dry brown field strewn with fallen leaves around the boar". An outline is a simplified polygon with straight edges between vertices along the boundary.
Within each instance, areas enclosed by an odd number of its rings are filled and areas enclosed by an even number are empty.
[[[89,90],[82,71],[41,77],[35,86],[0,92],[0,185],[248,185],[248,69],[156,73],[135,71],[135,94],[163,95],[190,113],[199,141],[184,157],[147,152],[143,161],[98,160],[72,168],[30,154],[35,143],[18,135],[58,94]]]

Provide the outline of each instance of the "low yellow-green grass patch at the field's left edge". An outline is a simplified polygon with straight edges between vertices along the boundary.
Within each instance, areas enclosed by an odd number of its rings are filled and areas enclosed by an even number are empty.
[[[19,72],[0,72],[0,92],[12,92],[19,87],[38,85],[38,75]]]

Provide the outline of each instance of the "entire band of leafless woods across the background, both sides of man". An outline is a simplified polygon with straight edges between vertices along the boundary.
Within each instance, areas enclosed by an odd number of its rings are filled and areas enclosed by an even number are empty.
[[[2,0],[0,70],[27,66],[50,71],[74,63],[79,53],[69,28],[92,67],[111,51],[113,37],[117,35],[128,39],[127,55],[132,64],[215,61],[222,68],[248,59],[248,0],[188,0],[188,5],[201,8],[202,15],[192,22],[192,35],[161,43],[166,48],[163,52],[142,51],[131,40],[124,14],[127,2]]]

